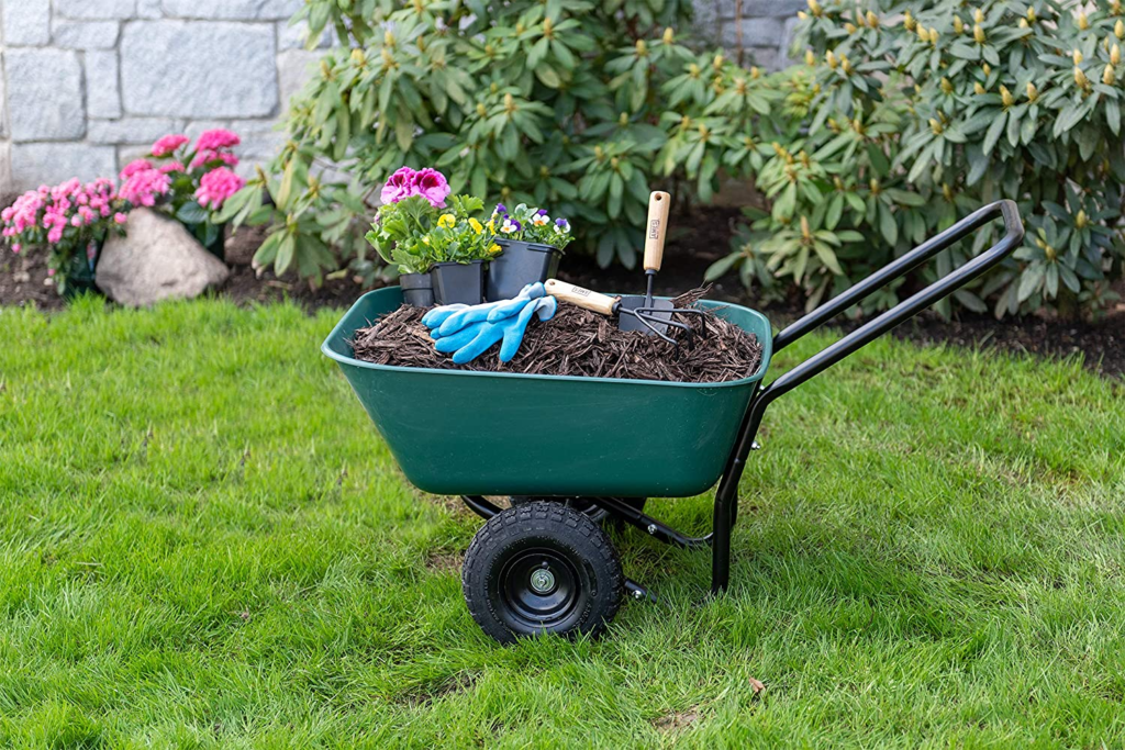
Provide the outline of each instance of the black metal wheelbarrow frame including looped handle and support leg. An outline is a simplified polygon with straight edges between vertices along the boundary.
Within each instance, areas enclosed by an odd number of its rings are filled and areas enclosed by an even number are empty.
[[[746,414],[742,416],[738,439],[735,441],[730,455],[727,458],[727,464],[722,470],[722,478],[719,480],[719,489],[714,495],[714,516],[710,534],[699,537],[685,536],[675,528],[666,526],[656,518],[647,516],[629,506],[620,498],[596,497],[590,499],[605,508],[614,517],[632,526],[637,526],[662,542],[683,548],[709,544],[711,546],[711,591],[719,594],[726,590],[730,584],[730,534],[738,517],[738,482],[741,479],[742,470],[746,467],[746,460],[750,451],[758,448],[755,439],[757,437],[758,427],[762,425],[762,417],[765,414],[766,407],[777,397],[788,394],[802,382],[824,372],[844,358],[879,338],[894,326],[914,317],[934,302],[980,277],[1010,255],[1024,240],[1024,225],[1019,220],[1016,204],[1010,200],[998,200],[974,211],[945,232],[918,245],[893,263],[889,263],[875,273],[872,273],[840,296],[828,300],[774,336],[773,351],[776,354],[785,346],[789,346],[811,331],[819,328],[826,322],[866,298],[875,290],[906,275],[942,251],[947,250],[954,243],[960,242],[970,233],[998,217],[1004,218],[1005,235],[987,252],[973,257],[960,269],[950,272],[870,323],[856,328],[836,343],[826,346],[785,374],[776,378],[770,385],[760,386],[754,392],[749,404],[747,404]],[[490,518],[501,512],[495,505],[479,496],[466,496],[462,499],[469,508],[484,518]],[[633,581],[627,581],[627,589],[637,598],[650,598],[648,591]]]

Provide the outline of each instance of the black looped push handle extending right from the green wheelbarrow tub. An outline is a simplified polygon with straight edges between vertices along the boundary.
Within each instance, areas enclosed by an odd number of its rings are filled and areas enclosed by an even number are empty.
[[[1016,208],[1016,204],[1011,200],[998,200],[994,204],[989,204],[973,211],[945,232],[927,240],[893,263],[884,265],[839,297],[825,302],[774,336],[774,352],[777,352],[810,331],[820,327],[826,320],[843,313],[870,296],[873,291],[909,273],[934,255],[937,255],[943,250],[946,250],[998,216],[1004,217],[1005,226],[1005,235],[998,243],[960,269],[951,271],[912,297],[899,302],[870,323],[856,328],[835,344],[817,352],[804,362],[801,362],[774,380],[762,390],[762,394],[756,399],[759,408],[764,409],[766,404],[773,399],[792,390],[806,380],[836,364],[848,354],[879,338],[898,324],[914,317],[943,297],[965,286],[1010,255],[1024,241],[1024,224],[1019,220],[1019,210]]]

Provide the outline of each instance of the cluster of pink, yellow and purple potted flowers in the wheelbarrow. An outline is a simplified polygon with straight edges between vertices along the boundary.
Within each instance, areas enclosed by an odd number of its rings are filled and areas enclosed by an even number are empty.
[[[511,213],[498,205],[483,218],[483,200],[450,197],[444,175],[432,169],[399,169],[379,197],[367,241],[398,266],[403,299],[418,307],[511,299],[552,275],[570,242],[566,219],[523,204]]]

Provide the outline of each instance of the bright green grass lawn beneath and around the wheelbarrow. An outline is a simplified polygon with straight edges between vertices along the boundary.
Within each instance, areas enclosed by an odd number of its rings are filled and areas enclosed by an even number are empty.
[[[0,747],[1125,746],[1119,380],[876,342],[771,407],[728,596],[630,530],[658,604],[505,649],[338,315],[0,310]]]

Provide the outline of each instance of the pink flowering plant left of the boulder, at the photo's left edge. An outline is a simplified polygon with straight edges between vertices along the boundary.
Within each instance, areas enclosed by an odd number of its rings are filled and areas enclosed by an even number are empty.
[[[78,280],[92,279],[101,243],[110,232],[124,234],[126,210],[112,181],[74,178],[29,190],[0,211],[0,238],[14,253],[46,249],[47,273],[65,295]]]

